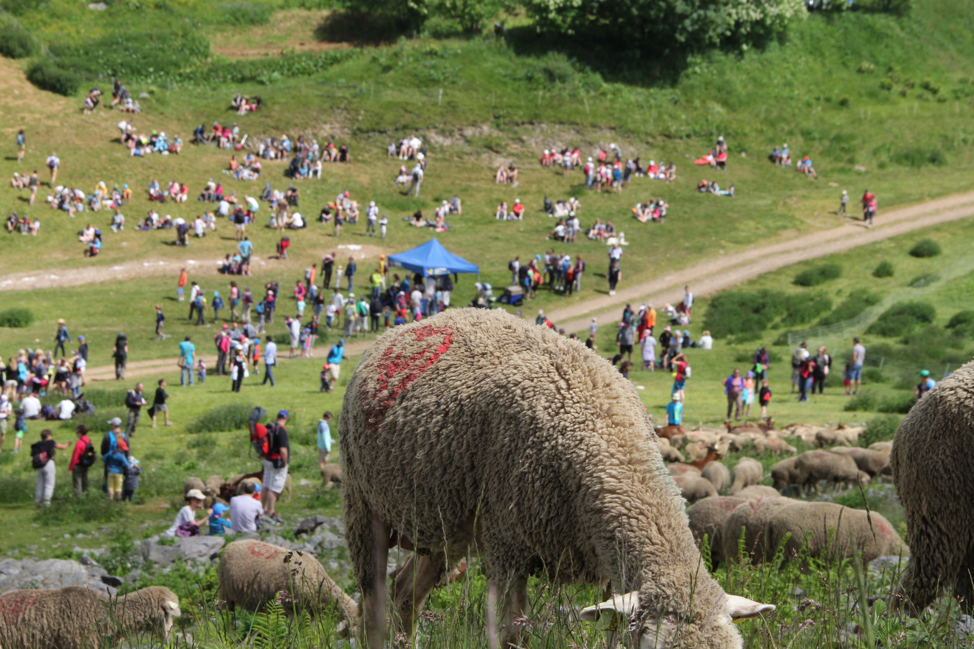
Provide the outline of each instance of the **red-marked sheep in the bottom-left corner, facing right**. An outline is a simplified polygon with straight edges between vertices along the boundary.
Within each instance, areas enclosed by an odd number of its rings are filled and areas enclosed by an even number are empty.
[[[89,649],[99,636],[116,640],[153,631],[165,640],[179,597],[150,586],[117,598],[82,586],[0,595],[0,643],[5,649]]]

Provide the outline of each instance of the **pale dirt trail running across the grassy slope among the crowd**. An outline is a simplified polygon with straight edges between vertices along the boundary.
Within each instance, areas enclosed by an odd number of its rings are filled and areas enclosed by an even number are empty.
[[[548,313],[548,317],[559,328],[564,328],[566,332],[581,332],[588,328],[591,314],[595,314],[594,317],[600,325],[617,321],[616,307],[626,303],[634,303],[634,306],[652,303],[657,308],[667,302],[675,304],[683,299],[683,286],[685,284],[691,284],[693,294],[702,297],[790,264],[824,257],[849,248],[881,241],[890,236],[929,228],[968,216],[974,216],[974,192],[937,198],[917,205],[891,210],[877,216],[876,226],[873,229],[866,228],[860,221],[850,221],[832,230],[805,234],[787,241],[711,259],[689,269],[676,270],[662,277],[618,291],[615,296],[605,295],[594,300],[588,300],[580,305],[551,311]],[[150,266],[149,269],[155,270],[162,268],[159,265],[165,264],[165,262],[153,262],[152,264],[155,266]],[[142,269],[139,271],[145,272]],[[35,274],[40,277],[43,273]],[[0,290],[6,288],[4,284],[8,277],[10,275],[0,277]],[[592,281],[592,278],[587,281]],[[68,284],[61,280],[58,285],[65,286]],[[348,356],[356,356],[367,349],[371,343],[370,340],[349,341],[346,343],[345,353]],[[321,351],[318,351],[317,358],[326,353],[324,351],[326,348],[322,347]],[[287,358],[281,358],[281,362],[287,360]],[[206,357],[206,364],[209,368],[212,369],[215,362],[215,356]],[[164,370],[175,372],[175,367],[175,358],[138,361],[129,364],[126,378],[159,374],[160,371]],[[115,368],[113,366],[90,368],[86,377],[91,380],[114,379]]]

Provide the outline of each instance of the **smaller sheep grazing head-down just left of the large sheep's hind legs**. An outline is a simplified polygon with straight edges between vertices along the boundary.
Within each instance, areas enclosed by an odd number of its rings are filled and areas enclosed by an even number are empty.
[[[285,558],[290,555],[289,561]],[[347,626],[356,620],[356,602],[307,553],[291,552],[256,539],[234,541],[216,568],[220,596],[231,610],[257,610],[281,591],[291,601],[316,608],[336,608]],[[293,607],[293,604],[290,605]]]

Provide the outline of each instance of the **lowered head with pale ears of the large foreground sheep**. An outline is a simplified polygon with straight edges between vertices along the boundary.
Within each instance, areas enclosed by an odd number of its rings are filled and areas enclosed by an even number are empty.
[[[595,606],[581,610],[584,622],[607,622],[608,644],[615,646],[619,636],[632,633],[638,649],[668,649],[675,641],[689,635],[696,637],[697,646],[740,649],[742,639],[733,625],[748,618],[756,618],[774,610],[774,604],[762,604],[746,597],[722,595],[712,615],[704,620],[681,623],[677,614],[649,619],[639,611],[639,592],[616,595]],[[695,627],[695,629],[694,629]],[[681,642],[682,644],[682,642]]]

